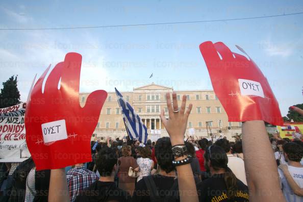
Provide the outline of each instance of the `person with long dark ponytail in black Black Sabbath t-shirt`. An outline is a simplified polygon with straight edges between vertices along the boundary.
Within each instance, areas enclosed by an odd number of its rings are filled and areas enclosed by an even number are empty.
[[[229,160],[223,148],[208,147],[204,159],[211,178],[197,185],[199,201],[249,201],[248,188],[228,167]]]

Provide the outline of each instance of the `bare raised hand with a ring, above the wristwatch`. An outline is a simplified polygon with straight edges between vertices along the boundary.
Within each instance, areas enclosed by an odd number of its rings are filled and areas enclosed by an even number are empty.
[[[184,144],[184,134],[187,127],[188,116],[192,109],[192,104],[189,104],[188,109],[185,110],[186,95],[183,95],[179,111],[175,93],[172,93],[172,104],[170,94],[166,93],[166,103],[169,114],[168,120],[166,120],[164,116],[164,110],[161,111],[160,118],[170,137],[171,144],[172,146],[176,144]]]

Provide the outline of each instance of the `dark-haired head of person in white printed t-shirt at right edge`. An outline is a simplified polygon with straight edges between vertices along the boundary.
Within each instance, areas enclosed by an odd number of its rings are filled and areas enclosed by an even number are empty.
[[[287,142],[283,144],[285,160],[300,162],[303,157],[303,147],[296,142]]]

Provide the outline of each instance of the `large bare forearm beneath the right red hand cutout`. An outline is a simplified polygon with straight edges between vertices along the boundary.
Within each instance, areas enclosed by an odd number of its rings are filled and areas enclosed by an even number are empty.
[[[264,121],[242,124],[243,154],[250,201],[285,201]]]

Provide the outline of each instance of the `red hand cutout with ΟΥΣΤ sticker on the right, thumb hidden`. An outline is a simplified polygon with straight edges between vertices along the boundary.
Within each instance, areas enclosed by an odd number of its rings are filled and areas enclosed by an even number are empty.
[[[229,121],[264,120],[274,125],[283,124],[279,104],[253,60],[231,52],[222,42],[206,41],[199,48]]]

